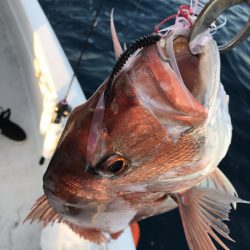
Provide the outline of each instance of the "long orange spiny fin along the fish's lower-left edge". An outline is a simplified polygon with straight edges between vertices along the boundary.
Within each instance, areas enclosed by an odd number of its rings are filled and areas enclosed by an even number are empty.
[[[66,224],[74,233],[78,234],[86,240],[90,240],[94,243],[101,244],[106,242],[108,238],[105,234],[100,233],[97,229],[85,229],[80,226],[73,224],[66,220],[62,215],[60,215],[54,207],[49,203],[48,197],[44,194],[42,195],[36,203],[31,208],[31,211],[24,219],[23,223],[30,221],[32,224],[34,221],[42,223],[43,227],[48,224],[54,223],[64,223]]]

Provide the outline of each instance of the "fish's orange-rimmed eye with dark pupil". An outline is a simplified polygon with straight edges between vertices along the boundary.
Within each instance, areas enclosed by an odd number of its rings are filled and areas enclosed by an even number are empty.
[[[128,160],[122,155],[111,155],[100,162],[96,169],[98,175],[106,178],[114,178],[126,171]]]

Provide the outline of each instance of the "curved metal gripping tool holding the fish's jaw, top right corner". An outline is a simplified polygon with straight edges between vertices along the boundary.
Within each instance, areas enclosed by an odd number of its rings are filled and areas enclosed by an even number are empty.
[[[200,12],[199,16],[195,20],[190,33],[189,33],[189,43],[194,40],[194,38],[204,32],[206,29],[210,27],[212,22],[226,9],[230,7],[240,4],[247,3],[250,4],[250,0],[211,0],[209,1],[205,7]],[[229,40],[226,44],[218,46],[220,53],[224,53],[236,45],[238,45],[241,41],[246,39],[250,35],[250,19],[248,19],[245,26],[240,30],[240,32],[235,35],[231,40]]]

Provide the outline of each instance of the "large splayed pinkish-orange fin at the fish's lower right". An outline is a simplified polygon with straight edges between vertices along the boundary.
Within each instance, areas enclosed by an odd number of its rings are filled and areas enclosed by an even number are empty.
[[[216,250],[210,237],[224,249],[229,249],[215,232],[233,241],[227,225],[222,221],[228,220],[232,203],[247,203],[246,201],[225,192],[203,187],[194,187],[184,194],[176,195],[175,198],[191,250]]]

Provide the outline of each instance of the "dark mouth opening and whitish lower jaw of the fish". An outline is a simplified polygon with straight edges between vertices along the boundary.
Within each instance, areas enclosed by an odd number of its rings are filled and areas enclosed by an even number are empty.
[[[187,90],[194,100],[203,106],[209,108],[212,99],[219,85],[218,72],[220,71],[219,54],[214,40],[210,40],[206,45],[201,45],[199,54],[193,55],[189,48],[187,37],[178,36],[173,42],[173,51],[176,60],[176,69],[171,60],[170,65],[183,81],[183,90]],[[180,81],[180,82],[181,82]]]

